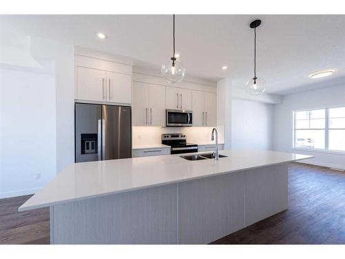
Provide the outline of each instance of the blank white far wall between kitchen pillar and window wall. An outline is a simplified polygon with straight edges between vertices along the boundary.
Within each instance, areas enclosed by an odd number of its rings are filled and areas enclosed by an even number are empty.
[[[273,149],[273,104],[233,99],[233,148]]]

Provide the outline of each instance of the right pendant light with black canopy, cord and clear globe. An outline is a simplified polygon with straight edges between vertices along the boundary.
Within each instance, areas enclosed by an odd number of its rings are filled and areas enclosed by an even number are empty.
[[[261,95],[265,91],[264,79],[257,77],[257,27],[261,20],[255,20],[250,23],[250,28],[254,29],[254,77],[249,79],[246,84],[246,91],[250,95]]]

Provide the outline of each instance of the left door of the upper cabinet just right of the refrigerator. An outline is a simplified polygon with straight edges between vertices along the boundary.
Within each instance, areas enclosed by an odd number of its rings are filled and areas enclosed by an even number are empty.
[[[132,102],[132,125],[146,126],[148,124],[148,84],[133,82]]]

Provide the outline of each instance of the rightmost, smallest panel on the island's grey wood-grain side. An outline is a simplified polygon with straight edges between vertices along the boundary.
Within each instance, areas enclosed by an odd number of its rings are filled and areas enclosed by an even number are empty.
[[[288,209],[288,164],[246,171],[246,226]]]

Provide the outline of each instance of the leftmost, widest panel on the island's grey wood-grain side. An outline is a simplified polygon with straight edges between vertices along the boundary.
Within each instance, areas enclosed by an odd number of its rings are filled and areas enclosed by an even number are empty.
[[[176,244],[177,184],[52,209],[55,244]]]

